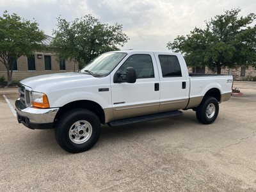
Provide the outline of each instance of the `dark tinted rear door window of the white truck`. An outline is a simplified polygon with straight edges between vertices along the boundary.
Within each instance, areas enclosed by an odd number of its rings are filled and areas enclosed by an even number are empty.
[[[181,77],[180,63],[177,56],[159,55],[158,56],[163,77]]]

